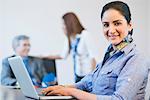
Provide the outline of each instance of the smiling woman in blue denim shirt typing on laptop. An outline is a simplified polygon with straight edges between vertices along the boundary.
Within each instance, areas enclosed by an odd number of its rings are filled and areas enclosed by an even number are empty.
[[[144,100],[149,63],[131,39],[128,5],[121,1],[107,3],[101,20],[110,42],[103,61],[78,83],[48,87],[44,94],[71,95],[81,100]]]

